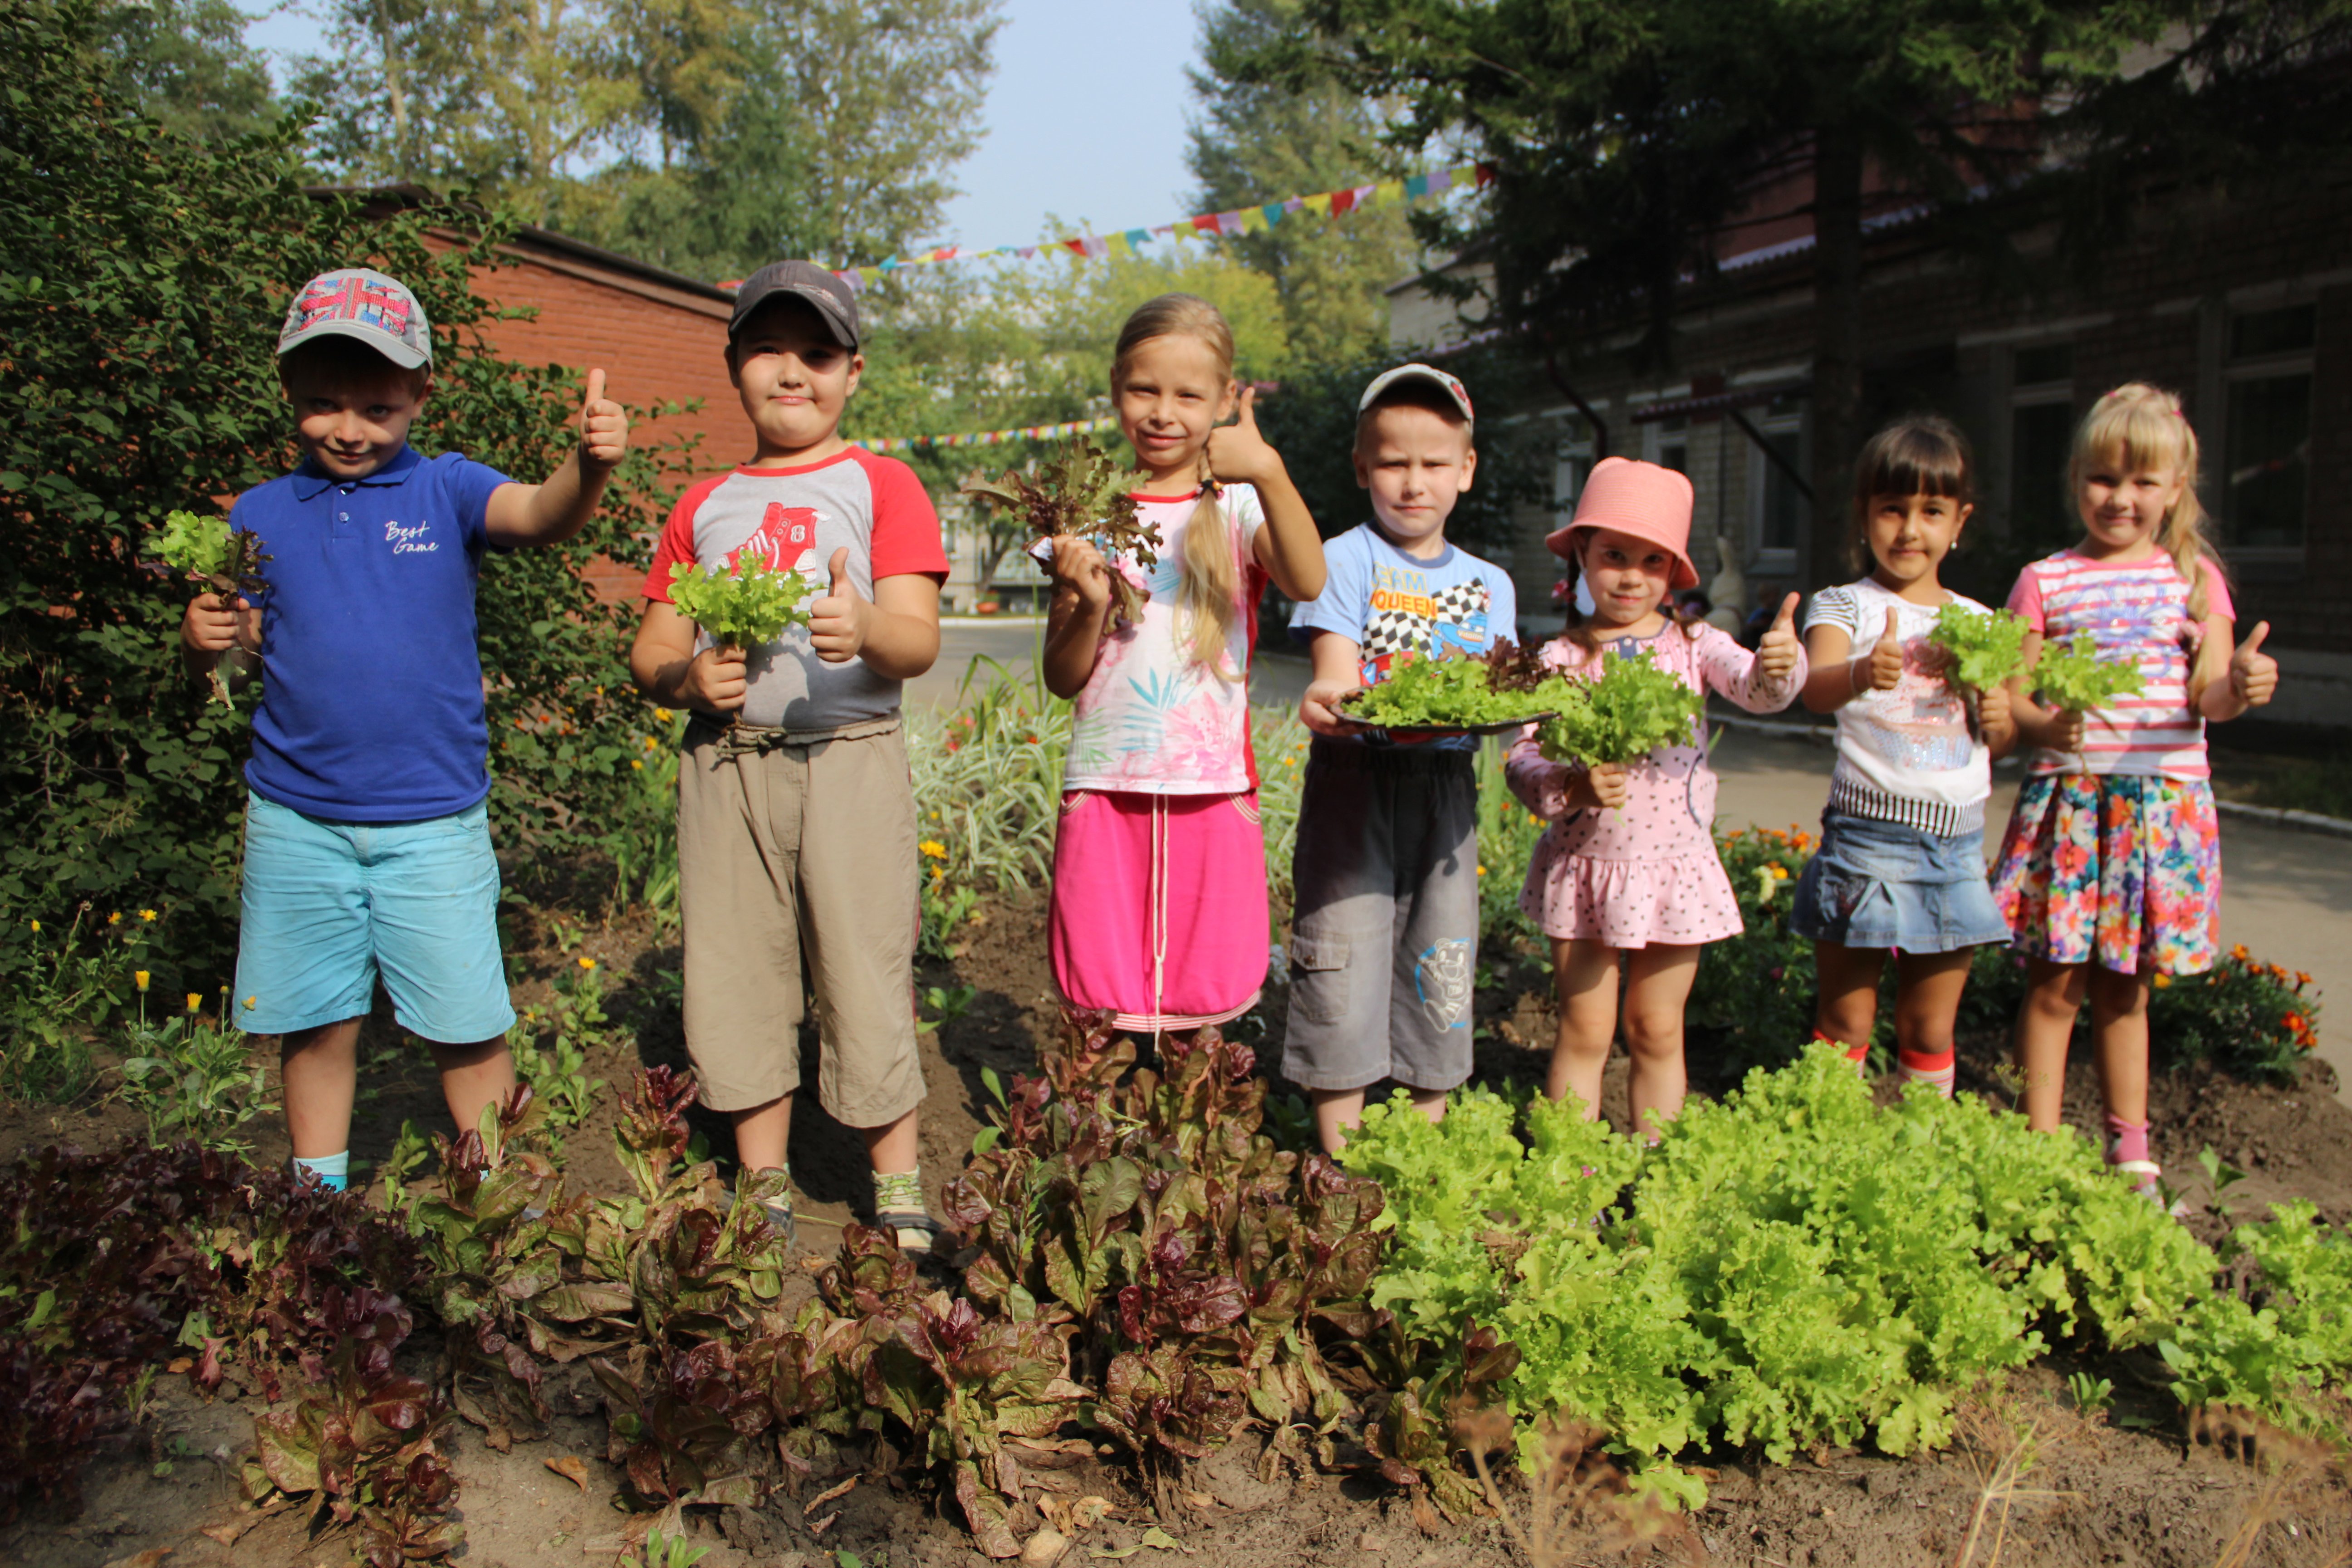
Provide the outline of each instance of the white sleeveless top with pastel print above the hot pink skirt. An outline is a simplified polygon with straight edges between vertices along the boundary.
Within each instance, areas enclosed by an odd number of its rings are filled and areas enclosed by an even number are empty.
[[[1129,790],[1138,795],[1240,795],[1256,788],[1249,755],[1249,646],[1258,623],[1265,574],[1251,545],[1265,508],[1249,484],[1225,484],[1218,512],[1230,534],[1242,585],[1218,670],[1207,670],[1178,639],[1176,590],[1183,541],[1195,527],[1200,496],[1136,496],[1136,520],[1152,531],[1157,567],[1127,555],[1112,569],[1141,576],[1148,599],[1141,625],[1103,639],[1087,689],[1070,712],[1070,757],[1063,790]]]

